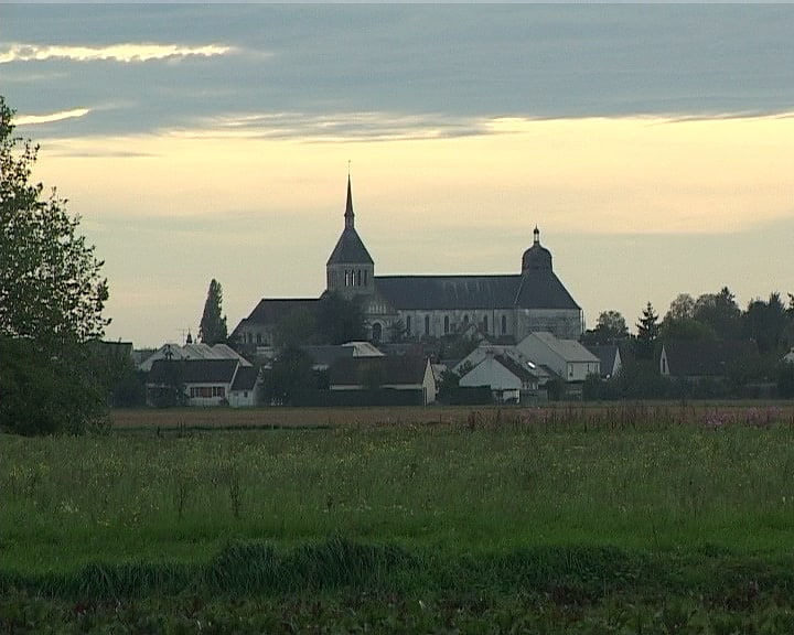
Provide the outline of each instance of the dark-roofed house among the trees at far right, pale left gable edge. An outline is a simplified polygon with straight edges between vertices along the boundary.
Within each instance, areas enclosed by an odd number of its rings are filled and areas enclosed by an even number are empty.
[[[758,346],[753,342],[670,340],[662,346],[659,374],[695,381],[725,377],[758,356]]]

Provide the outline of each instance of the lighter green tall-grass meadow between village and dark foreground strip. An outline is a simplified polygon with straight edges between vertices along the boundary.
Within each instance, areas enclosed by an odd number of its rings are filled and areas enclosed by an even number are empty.
[[[784,555],[788,417],[633,405],[484,410],[451,424],[3,437],[0,569],[210,562],[240,540],[297,548],[328,536],[455,557]]]

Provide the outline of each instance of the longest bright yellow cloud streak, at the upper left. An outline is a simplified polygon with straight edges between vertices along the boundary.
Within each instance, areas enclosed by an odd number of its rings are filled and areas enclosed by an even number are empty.
[[[179,44],[126,43],[108,46],[42,46],[37,44],[10,44],[0,50],[0,64],[11,62],[41,62],[44,60],[72,60],[74,62],[148,62],[174,57],[214,57],[233,51],[232,46],[206,44],[184,46]]]

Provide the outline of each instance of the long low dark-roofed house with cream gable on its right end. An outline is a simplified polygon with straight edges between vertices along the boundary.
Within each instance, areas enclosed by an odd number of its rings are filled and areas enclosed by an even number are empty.
[[[414,390],[423,405],[436,401],[436,377],[427,357],[340,357],[330,369],[331,390]]]

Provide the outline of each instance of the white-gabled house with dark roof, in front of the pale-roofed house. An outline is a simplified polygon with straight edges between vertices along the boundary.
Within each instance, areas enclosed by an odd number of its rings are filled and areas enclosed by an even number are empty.
[[[515,362],[512,357],[486,353],[476,366],[460,378],[459,386],[465,388],[489,386],[494,401],[519,403],[522,396],[525,399],[529,396],[537,397],[539,380],[526,365]]]

